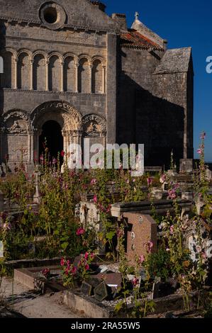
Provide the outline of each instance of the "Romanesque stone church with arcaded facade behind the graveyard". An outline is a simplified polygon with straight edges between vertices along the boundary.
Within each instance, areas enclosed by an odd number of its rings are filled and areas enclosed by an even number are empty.
[[[121,5],[121,1],[120,1]],[[33,164],[69,143],[144,143],[145,164],[193,157],[191,47],[90,0],[0,0],[0,153]],[[147,21],[147,18],[145,18]]]

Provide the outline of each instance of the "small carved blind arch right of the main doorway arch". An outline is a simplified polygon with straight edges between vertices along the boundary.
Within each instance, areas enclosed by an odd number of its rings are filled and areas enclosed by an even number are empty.
[[[106,135],[106,119],[96,113],[89,113],[82,118],[82,129],[85,136],[99,137]]]

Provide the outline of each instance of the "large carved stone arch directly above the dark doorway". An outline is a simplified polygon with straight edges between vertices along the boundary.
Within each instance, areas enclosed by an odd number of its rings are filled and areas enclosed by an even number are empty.
[[[49,101],[41,104],[30,115],[33,128],[41,128],[46,120],[56,120],[62,130],[81,130],[82,115],[65,101]]]

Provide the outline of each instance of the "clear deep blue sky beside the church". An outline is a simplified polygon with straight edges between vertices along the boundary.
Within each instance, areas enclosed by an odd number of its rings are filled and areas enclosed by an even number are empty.
[[[191,46],[194,58],[194,153],[201,131],[206,131],[206,160],[212,162],[212,74],[206,73],[206,57],[212,56],[212,1],[201,0],[102,0],[106,12],[125,13],[130,28],[135,11],[140,21],[162,38],[168,47]]]

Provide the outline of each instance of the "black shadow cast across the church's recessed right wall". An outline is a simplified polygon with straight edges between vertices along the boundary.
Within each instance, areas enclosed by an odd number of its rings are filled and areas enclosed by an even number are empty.
[[[145,145],[145,166],[170,165],[184,157],[184,108],[153,96],[121,73],[117,100],[117,142]]]

